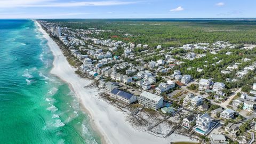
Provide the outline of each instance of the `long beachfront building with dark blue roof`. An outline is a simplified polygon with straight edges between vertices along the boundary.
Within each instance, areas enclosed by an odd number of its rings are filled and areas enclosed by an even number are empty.
[[[120,91],[118,89],[113,89],[110,92],[110,97],[117,99],[119,101],[122,101],[124,103],[127,103],[127,104],[131,104],[132,102],[137,100],[137,97],[135,95],[124,92],[124,91]]]

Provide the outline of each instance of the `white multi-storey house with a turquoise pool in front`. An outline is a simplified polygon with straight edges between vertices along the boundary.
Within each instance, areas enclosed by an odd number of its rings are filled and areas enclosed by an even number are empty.
[[[211,127],[214,125],[212,121],[213,119],[207,113],[201,116],[198,115],[196,118],[196,126],[194,128],[194,131],[196,133],[206,135],[210,131]]]

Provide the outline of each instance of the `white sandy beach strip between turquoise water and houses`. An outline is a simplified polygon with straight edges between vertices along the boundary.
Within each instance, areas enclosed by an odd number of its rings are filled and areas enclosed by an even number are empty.
[[[37,23],[37,22],[36,22]],[[125,116],[122,111],[118,111],[114,106],[109,105],[106,101],[100,100],[98,96],[98,89],[91,88],[87,90],[84,86],[91,82],[87,79],[81,78],[75,74],[75,68],[71,67],[62,54],[61,50],[50,38],[50,36],[37,23],[39,31],[43,33],[44,38],[47,39],[53,55],[53,69],[51,73],[67,82],[74,90],[76,97],[81,100],[86,113],[89,113],[93,121],[93,125],[100,132],[103,137],[103,143],[170,143],[171,141],[191,141],[188,137],[182,135],[172,134],[170,137],[158,138],[147,132],[136,131],[129,123],[125,121]]]

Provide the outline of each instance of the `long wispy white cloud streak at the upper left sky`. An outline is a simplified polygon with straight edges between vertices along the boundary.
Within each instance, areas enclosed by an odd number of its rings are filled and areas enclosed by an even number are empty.
[[[57,2],[57,0],[1,0],[0,7],[72,7],[72,6],[109,6],[138,3],[135,1],[98,1],[98,2]]]

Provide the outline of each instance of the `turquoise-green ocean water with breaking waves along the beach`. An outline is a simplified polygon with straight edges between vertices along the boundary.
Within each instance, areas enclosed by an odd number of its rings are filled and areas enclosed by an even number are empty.
[[[31,20],[0,20],[0,143],[101,143]]]

